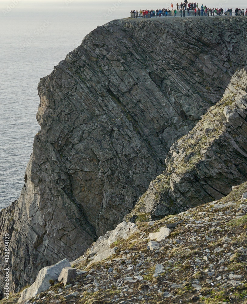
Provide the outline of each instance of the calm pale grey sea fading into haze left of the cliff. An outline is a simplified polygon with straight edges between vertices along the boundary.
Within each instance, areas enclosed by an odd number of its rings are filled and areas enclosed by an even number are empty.
[[[98,25],[129,15],[129,5],[76,1],[0,2],[0,209],[19,197],[39,130],[37,84]],[[102,5],[104,3],[104,5]]]

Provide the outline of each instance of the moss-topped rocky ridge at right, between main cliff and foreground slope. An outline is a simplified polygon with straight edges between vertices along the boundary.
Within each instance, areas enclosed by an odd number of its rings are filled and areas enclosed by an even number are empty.
[[[226,196],[247,178],[247,68],[236,72],[221,100],[176,141],[166,171],[126,218],[154,218]],[[133,217],[134,216],[134,217]]]

